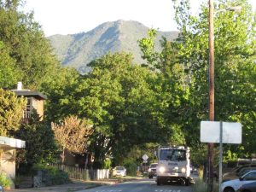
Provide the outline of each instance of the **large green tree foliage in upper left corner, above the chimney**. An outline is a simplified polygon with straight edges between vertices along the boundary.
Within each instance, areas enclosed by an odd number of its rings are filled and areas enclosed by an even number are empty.
[[[12,88],[19,79],[35,90],[56,73],[60,64],[33,14],[19,11],[21,3],[21,0],[0,1],[0,39],[4,44],[4,50],[0,48],[0,82]]]

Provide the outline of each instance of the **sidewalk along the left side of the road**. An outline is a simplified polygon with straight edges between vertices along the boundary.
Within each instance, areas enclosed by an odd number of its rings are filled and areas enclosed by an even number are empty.
[[[100,181],[82,181],[82,180],[72,180],[72,183],[42,187],[42,188],[30,188],[30,189],[9,189],[6,192],[72,192],[84,189],[96,188],[102,185],[110,185],[122,182],[128,182],[136,179],[142,179],[143,177],[117,177],[109,178]]]

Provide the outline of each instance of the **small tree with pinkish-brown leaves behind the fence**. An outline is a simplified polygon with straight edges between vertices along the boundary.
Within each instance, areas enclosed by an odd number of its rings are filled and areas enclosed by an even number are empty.
[[[89,120],[69,116],[58,125],[51,124],[55,140],[61,146],[61,163],[64,163],[66,150],[74,154],[84,154],[89,144],[92,125]]]

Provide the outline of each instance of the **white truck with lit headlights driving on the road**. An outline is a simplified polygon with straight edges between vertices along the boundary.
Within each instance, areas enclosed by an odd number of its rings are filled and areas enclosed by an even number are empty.
[[[160,147],[158,149],[158,166],[156,168],[157,185],[177,181],[190,184],[189,148]]]

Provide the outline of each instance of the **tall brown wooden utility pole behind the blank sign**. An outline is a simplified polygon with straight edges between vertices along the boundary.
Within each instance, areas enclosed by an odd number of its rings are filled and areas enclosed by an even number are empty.
[[[214,26],[213,0],[209,0],[209,120],[214,121]],[[213,143],[208,143],[207,191],[213,191]]]

